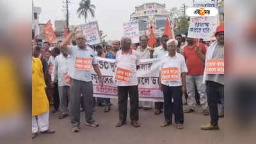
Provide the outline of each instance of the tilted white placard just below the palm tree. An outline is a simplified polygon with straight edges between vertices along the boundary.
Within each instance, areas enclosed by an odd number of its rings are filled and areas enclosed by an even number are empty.
[[[99,26],[97,21],[88,22],[81,25],[88,45],[100,44]]]

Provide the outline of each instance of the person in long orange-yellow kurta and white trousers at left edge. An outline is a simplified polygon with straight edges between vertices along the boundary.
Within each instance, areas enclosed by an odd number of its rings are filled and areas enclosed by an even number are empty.
[[[45,93],[42,62],[36,58],[39,53],[40,47],[35,47],[32,58],[32,138],[36,137],[38,131],[54,133],[49,129],[49,101]]]

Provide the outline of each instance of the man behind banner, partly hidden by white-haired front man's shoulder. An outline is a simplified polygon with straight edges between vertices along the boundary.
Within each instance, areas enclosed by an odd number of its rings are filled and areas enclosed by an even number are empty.
[[[151,54],[150,58],[163,58],[165,54],[168,54],[168,49],[166,42],[169,40],[168,35],[163,35],[161,38],[162,46],[156,48],[153,54]],[[162,113],[163,102],[155,102],[155,115],[159,115]]]

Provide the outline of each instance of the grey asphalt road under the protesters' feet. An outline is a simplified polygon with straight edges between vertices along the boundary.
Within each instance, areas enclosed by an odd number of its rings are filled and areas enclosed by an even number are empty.
[[[112,100],[111,111],[104,113],[101,107],[95,108],[93,117],[99,127],[89,127],[84,123],[84,112],[81,113],[81,131],[73,133],[70,118],[58,119],[60,112],[50,114],[50,127],[55,134],[38,134],[32,140],[34,144],[219,144],[223,143],[224,128],[223,118],[220,118],[219,131],[202,131],[200,125],[209,122],[209,116],[202,115],[198,106],[196,112],[184,114],[184,129],[179,130],[175,124],[169,127],[160,127],[164,122],[164,115],[154,115],[154,110],[140,109],[140,125],[134,128],[130,124],[129,112],[127,124],[115,127],[118,122],[117,101]],[[186,108],[186,106],[184,106]],[[129,110],[129,109],[128,109]],[[173,116],[174,122],[174,116]]]

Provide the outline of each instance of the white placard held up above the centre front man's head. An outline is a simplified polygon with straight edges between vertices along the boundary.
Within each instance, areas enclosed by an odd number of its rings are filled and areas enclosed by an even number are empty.
[[[139,43],[139,23],[138,21],[126,22],[123,24],[124,36],[128,36],[132,39],[132,43]]]

